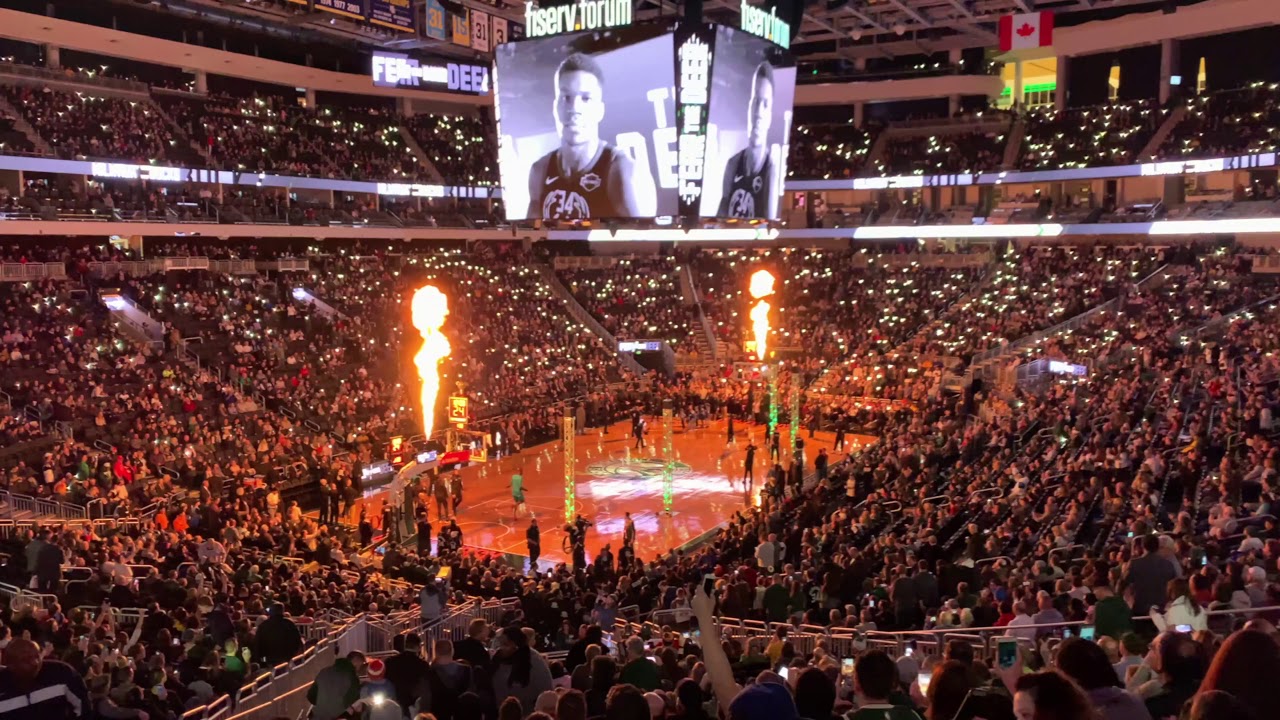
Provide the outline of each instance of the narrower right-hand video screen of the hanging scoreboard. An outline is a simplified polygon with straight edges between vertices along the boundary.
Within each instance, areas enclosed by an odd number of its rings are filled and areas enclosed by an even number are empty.
[[[716,27],[701,217],[778,219],[795,94],[790,54]]]

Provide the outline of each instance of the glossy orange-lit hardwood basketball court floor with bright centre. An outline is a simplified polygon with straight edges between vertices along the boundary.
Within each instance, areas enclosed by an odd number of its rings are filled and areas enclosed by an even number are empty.
[[[712,423],[708,428],[680,429],[672,436],[676,471],[673,479],[672,514],[663,512],[660,420],[650,421],[646,446],[635,448],[630,437],[631,424],[618,423],[608,434],[599,429],[576,438],[576,510],[595,527],[588,532],[588,557],[609,543],[617,556],[622,546],[626,512],[636,524],[636,553],[652,559],[680,547],[727,521],[733,512],[758,501],[760,484],[771,466],[764,450],[764,425],[735,423],[737,442],[726,442],[724,423]],[[786,425],[781,425],[783,445],[788,442]],[[813,457],[819,447],[826,447],[832,461],[835,433],[819,432],[805,438],[806,470],[813,468]],[[755,484],[751,495],[742,486],[742,464],[746,456],[746,438],[758,446],[755,455]],[[854,443],[865,445],[874,438],[846,436],[845,450]],[[842,456],[842,455],[841,455]],[[790,452],[783,450],[783,466],[790,462]],[[529,514],[513,518],[511,501],[511,475],[520,471],[525,477],[527,511],[538,518],[543,533],[540,565],[568,561],[564,543],[564,452],[563,442],[550,442],[524,452],[472,465],[462,470],[463,502],[458,509],[458,527],[463,543],[486,550],[527,555],[525,529]],[[385,492],[366,498],[380,507]],[[442,523],[431,503],[431,524],[438,533]]]

